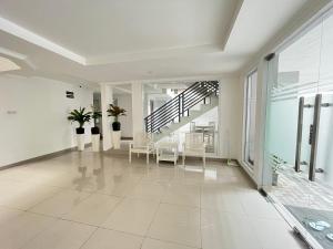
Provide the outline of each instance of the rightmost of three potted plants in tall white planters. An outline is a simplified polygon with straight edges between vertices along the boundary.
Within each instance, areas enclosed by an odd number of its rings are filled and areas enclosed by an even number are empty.
[[[119,116],[125,116],[127,111],[117,105],[110,104],[107,112],[109,113],[109,116],[114,117],[111,133],[113,148],[120,148],[121,124],[119,122]]]

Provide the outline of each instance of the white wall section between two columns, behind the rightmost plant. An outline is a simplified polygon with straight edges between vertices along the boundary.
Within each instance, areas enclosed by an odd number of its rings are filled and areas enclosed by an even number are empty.
[[[121,136],[133,137],[132,128],[132,94],[114,94],[113,98],[118,100],[118,105],[127,111],[125,116],[120,116]]]

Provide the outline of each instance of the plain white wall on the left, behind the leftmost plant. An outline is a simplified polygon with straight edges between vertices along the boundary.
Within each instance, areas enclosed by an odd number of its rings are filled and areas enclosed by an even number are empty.
[[[67,98],[73,91],[74,98]],[[0,167],[75,146],[68,113],[90,107],[92,91],[42,77],[0,76]],[[90,142],[90,125],[85,126]]]

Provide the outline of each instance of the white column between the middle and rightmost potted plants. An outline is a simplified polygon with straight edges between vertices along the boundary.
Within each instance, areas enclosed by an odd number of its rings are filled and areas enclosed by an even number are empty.
[[[112,103],[112,87],[105,83],[101,83],[101,106],[102,106],[102,127],[103,127],[103,151],[112,148],[111,143],[111,118],[108,116],[107,110]]]

